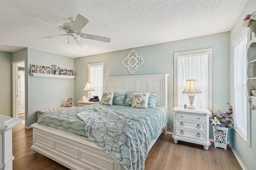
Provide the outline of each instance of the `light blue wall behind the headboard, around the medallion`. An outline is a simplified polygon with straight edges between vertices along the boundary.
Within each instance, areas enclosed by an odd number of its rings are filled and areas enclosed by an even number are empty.
[[[168,110],[169,120],[173,120],[171,109],[174,107],[174,57],[175,52],[212,48],[213,63],[213,110],[226,109],[229,102],[229,32],[190,38],[175,42],[161,43],[134,48],[145,62],[134,75],[169,74]],[[130,75],[122,65],[122,60],[131,49],[91,55],[75,59],[75,101],[86,95],[83,91],[88,79],[88,63],[105,61],[106,77]],[[77,103],[76,103],[77,105]],[[172,123],[168,125],[168,128]],[[210,138],[213,138],[210,127]],[[169,129],[172,131],[172,129]]]

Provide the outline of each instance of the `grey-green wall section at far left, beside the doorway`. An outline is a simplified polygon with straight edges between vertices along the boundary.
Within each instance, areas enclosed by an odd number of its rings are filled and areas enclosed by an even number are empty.
[[[0,114],[12,117],[12,53],[0,51]]]

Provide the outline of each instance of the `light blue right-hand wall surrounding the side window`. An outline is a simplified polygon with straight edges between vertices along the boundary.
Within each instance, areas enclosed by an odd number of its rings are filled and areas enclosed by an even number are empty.
[[[233,69],[233,56],[234,56],[234,48],[232,45],[233,40],[238,36],[238,34],[243,30],[242,20],[246,15],[251,14],[253,11],[256,11],[256,0],[250,0],[247,4],[246,8],[243,10],[242,14],[239,16],[236,24],[234,24],[232,30],[230,31],[230,64]],[[233,81],[233,71],[230,71],[230,84]],[[230,102],[233,102],[233,88],[230,87]],[[254,99],[254,104],[256,104],[256,100]],[[230,143],[236,150],[238,156],[242,160],[244,166],[248,170],[256,169],[256,111],[251,114],[251,146],[242,139],[242,137],[235,131],[232,130]]]

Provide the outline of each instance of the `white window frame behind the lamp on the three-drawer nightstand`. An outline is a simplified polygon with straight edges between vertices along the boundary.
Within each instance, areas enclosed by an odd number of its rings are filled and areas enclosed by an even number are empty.
[[[185,52],[179,52],[174,53],[174,106],[178,106],[178,78],[177,78],[177,72],[178,72],[178,65],[177,65],[177,58],[179,55],[188,55],[188,54],[194,54],[194,53],[208,53],[208,107],[205,109],[212,109],[212,48],[208,49],[200,49],[200,50],[194,50],[194,51],[185,51]],[[185,80],[186,81],[186,80]]]

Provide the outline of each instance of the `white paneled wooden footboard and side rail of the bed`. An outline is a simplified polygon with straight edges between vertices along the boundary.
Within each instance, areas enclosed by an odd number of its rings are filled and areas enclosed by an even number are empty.
[[[87,137],[34,123],[31,149],[72,170],[124,170],[111,156]],[[166,128],[158,132],[158,137]],[[166,134],[166,131],[164,131]],[[152,140],[149,150],[157,138]]]

